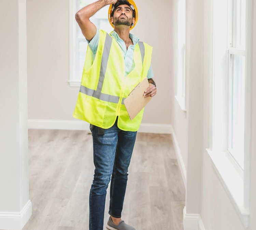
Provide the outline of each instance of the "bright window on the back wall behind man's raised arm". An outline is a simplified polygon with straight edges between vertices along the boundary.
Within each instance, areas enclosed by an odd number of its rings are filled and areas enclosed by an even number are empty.
[[[88,43],[82,34],[82,31],[75,20],[75,14],[84,6],[95,2],[95,0],[70,0],[70,86],[80,87],[83,66],[86,56]],[[90,17],[90,21],[98,29],[103,29],[111,32],[111,27],[108,19],[109,5],[102,7],[95,15]]]

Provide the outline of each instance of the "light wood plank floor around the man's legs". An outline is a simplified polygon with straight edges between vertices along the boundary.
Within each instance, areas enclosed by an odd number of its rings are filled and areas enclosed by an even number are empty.
[[[23,230],[88,230],[93,144],[87,131],[29,129],[32,216]],[[136,230],[183,230],[185,188],[171,135],[138,133],[122,219]],[[104,230],[109,214],[107,189]]]

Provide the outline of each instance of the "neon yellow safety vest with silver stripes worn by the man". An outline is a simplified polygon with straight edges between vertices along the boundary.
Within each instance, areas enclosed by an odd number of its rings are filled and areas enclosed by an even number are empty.
[[[81,87],[73,117],[101,128],[117,126],[124,131],[138,131],[144,108],[130,120],[124,105],[128,94],[147,77],[153,47],[139,41],[134,46],[133,70],[125,76],[124,54],[117,41],[104,30],[95,59],[87,47]]]

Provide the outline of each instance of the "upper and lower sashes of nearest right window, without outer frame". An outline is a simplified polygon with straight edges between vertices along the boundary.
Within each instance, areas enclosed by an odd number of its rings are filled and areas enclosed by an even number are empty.
[[[233,0],[230,9],[228,151],[244,169],[245,0]]]

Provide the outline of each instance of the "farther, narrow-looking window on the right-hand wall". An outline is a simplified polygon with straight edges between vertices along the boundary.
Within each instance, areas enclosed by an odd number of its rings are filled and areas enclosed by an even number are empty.
[[[186,31],[186,2],[178,2],[178,45],[177,45],[177,95],[175,96],[181,109],[185,109],[185,31]]]

